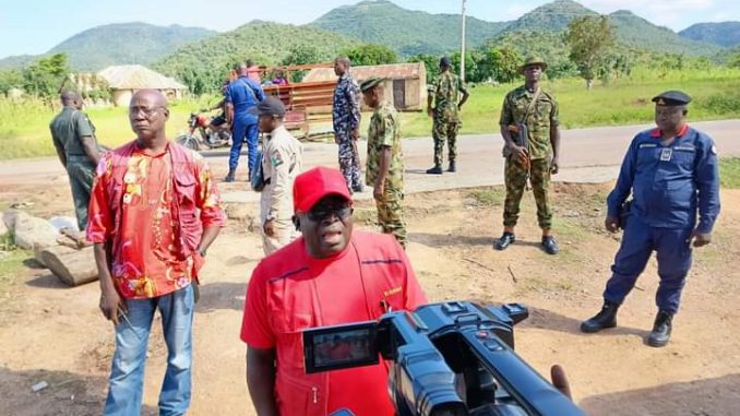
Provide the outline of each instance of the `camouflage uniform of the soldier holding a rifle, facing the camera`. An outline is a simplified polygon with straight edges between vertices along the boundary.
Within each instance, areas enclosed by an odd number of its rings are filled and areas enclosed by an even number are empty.
[[[500,124],[506,127],[521,122],[534,95],[535,93],[528,92],[524,85],[506,94]],[[552,207],[548,194],[552,158],[550,126],[558,126],[558,102],[551,93],[541,91],[525,123],[529,133],[529,180],[537,202],[537,222],[542,229],[552,226]],[[504,182],[506,198],[503,205],[503,225],[513,227],[518,219],[520,202],[527,182],[526,167],[515,157],[506,157]]]

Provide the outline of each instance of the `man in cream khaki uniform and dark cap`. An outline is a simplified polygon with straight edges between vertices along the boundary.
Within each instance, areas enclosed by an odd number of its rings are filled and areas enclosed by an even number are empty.
[[[293,225],[293,182],[300,173],[303,146],[283,126],[285,106],[274,97],[250,108],[260,117],[260,131],[266,133],[262,150],[265,187],[260,200],[262,248],[265,255],[296,238]]]

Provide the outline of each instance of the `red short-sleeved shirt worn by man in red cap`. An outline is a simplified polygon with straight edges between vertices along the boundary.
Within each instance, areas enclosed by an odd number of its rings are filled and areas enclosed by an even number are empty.
[[[276,348],[282,416],[339,408],[357,416],[394,414],[384,362],[318,375],[306,375],[303,365],[302,330],[375,320],[385,312],[383,301],[394,310],[426,302],[405,251],[390,235],[355,231],[353,243],[326,259],[309,257],[299,238],[254,269],[241,338],[250,347]]]

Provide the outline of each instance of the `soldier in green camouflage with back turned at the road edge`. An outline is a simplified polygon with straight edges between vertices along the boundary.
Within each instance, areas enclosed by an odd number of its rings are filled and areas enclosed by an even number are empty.
[[[450,70],[450,59],[443,57],[440,60],[440,74],[429,85],[427,96],[427,114],[434,119],[432,138],[434,139],[434,166],[427,169],[427,174],[442,175],[442,154],[444,153],[444,140],[447,140],[450,152],[450,166],[447,171],[455,171],[455,158],[457,156],[457,131],[462,126],[458,110],[467,100],[468,92],[459,76]],[[457,102],[457,93],[463,98]],[[432,108],[432,102],[434,102]]]

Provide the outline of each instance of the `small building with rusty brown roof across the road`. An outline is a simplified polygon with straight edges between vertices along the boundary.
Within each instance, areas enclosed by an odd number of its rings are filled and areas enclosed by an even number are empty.
[[[427,106],[427,68],[423,62],[351,67],[349,73],[359,83],[371,76],[386,79],[386,97],[393,98],[393,105],[398,110],[421,110]],[[303,78],[303,82],[325,81],[336,81],[334,68],[315,68]],[[389,95],[387,92],[393,93]]]

